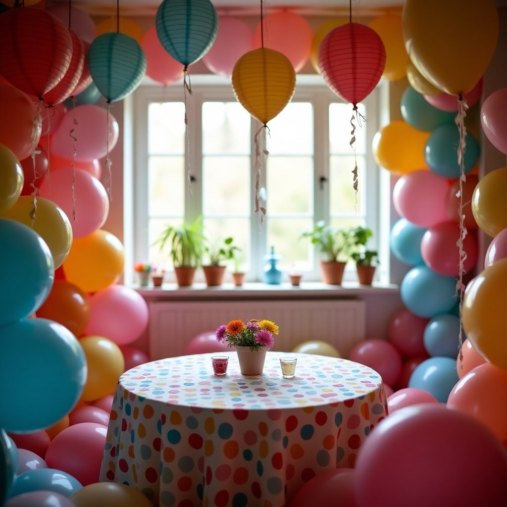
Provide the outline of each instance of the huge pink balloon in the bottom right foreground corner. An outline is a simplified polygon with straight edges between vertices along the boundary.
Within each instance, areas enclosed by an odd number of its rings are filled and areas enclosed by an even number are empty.
[[[358,507],[500,507],[506,473],[507,453],[483,424],[439,404],[418,404],[390,414],[361,445],[354,492]]]

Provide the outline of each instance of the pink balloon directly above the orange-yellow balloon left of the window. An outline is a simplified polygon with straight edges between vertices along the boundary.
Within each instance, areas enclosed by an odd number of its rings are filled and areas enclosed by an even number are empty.
[[[82,169],[57,170],[45,178],[41,197],[56,203],[65,212],[73,236],[83,238],[100,229],[109,213],[109,198],[99,180]]]

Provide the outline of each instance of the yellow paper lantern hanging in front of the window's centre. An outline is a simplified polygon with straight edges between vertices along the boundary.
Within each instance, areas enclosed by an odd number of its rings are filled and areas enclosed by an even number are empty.
[[[279,51],[258,48],[245,53],[232,70],[238,102],[263,125],[283,111],[296,89],[296,72]]]

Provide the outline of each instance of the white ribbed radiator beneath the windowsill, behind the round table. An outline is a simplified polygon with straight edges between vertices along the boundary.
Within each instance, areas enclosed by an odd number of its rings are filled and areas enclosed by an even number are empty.
[[[333,345],[341,357],[366,334],[366,303],[346,300],[154,301],[150,303],[149,344],[152,360],[185,355],[200,333],[213,332],[229,320],[265,318],[280,328],[274,351],[291,351],[308,340]]]

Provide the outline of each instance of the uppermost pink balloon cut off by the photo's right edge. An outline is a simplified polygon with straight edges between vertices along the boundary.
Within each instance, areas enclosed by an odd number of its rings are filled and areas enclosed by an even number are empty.
[[[481,126],[493,146],[507,155],[507,88],[494,91],[481,107]]]

